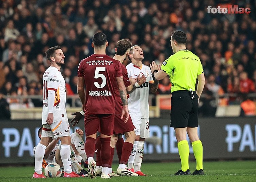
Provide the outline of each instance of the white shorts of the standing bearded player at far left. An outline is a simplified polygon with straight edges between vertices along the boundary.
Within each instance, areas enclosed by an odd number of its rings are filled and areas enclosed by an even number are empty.
[[[51,125],[43,125],[42,137],[51,137],[57,139],[62,136],[70,136],[68,121],[57,121]]]

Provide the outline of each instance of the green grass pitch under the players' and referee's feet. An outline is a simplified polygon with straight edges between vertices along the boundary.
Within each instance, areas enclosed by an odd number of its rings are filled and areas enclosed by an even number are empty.
[[[117,164],[113,165],[113,169],[117,168]],[[30,182],[30,181],[102,181],[100,177],[96,179],[84,179],[84,178],[48,178],[48,179],[32,179],[33,166],[26,167],[0,167],[0,181],[18,181],[18,182]],[[210,181],[256,181],[256,161],[217,161],[217,162],[204,162],[204,176],[171,176],[180,169],[179,162],[168,163],[143,163],[142,171],[147,174],[147,177],[113,177],[107,179],[112,182],[164,182],[164,181],[189,181],[189,182],[210,182]],[[195,169],[195,163],[190,162],[191,173]],[[105,181],[105,180],[103,180]]]

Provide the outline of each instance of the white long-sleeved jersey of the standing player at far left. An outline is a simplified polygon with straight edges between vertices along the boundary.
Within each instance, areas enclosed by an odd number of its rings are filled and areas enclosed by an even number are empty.
[[[53,123],[68,121],[66,112],[66,83],[61,72],[53,66],[47,68],[43,75],[43,113],[42,124],[46,124],[48,116],[48,90],[55,91],[53,105]]]

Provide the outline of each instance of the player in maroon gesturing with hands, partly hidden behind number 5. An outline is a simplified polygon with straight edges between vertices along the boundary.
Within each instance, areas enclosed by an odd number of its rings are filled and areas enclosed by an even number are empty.
[[[120,61],[121,63],[127,58],[131,48],[131,42],[127,39],[122,39],[117,42],[117,46],[115,48],[116,54],[113,57],[113,59],[116,59]],[[136,82],[138,85],[142,85],[146,81],[146,77],[144,75],[139,76],[136,80],[134,78],[132,79],[132,84],[129,81],[129,77],[127,74],[127,69],[124,65],[121,64],[122,67],[122,72],[123,72],[123,79],[125,83],[125,87],[127,90],[127,93],[131,93],[133,90],[135,90],[137,87],[134,85]],[[116,170],[116,173],[118,175],[123,175],[123,176],[138,176],[136,173],[127,170],[126,169],[126,164],[128,161],[128,158],[130,156],[132,147],[133,147],[133,142],[135,140],[136,134],[134,132],[134,126],[131,121],[131,117],[129,116],[129,120],[124,123],[120,119],[121,113],[122,113],[122,101],[120,98],[120,94],[118,92],[118,86],[117,83],[115,83],[115,122],[114,122],[114,134],[111,136],[111,158],[109,162],[109,175],[110,176],[116,176],[116,174],[112,173],[112,160],[114,156],[114,148],[115,144],[118,141],[118,144],[116,146],[116,151],[118,154],[119,158],[119,166]],[[126,136],[126,141],[124,143],[124,140],[122,138],[122,133],[125,134]],[[122,143],[123,142],[123,143]],[[99,138],[96,139],[96,157],[97,157],[97,168],[96,168],[96,174],[100,174],[101,169],[99,166],[101,166],[101,160],[100,160],[100,140]]]

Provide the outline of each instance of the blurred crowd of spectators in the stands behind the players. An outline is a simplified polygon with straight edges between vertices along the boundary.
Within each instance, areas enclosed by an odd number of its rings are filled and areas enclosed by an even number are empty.
[[[207,14],[207,6],[226,3],[250,7],[251,13]],[[94,53],[91,42],[97,32],[107,35],[109,56],[114,56],[118,40],[128,38],[141,46],[143,63],[149,65],[153,60],[161,64],[173,54],[170,35],[181,30],[187,34],[187,49],[204,66],[203,104],[214,110],[215,96],[229,93],[217,105],[250,100],[246,107],[255,108],[256,97],[247,95],[255,93],[256,85],[255,12],[254,0],[1,0],[0,116],[8,105],[42,106],[41,97],[20,103],[14,96],[42,95],[42,75],[50,63],[45,51],[55,45],[66,56],[61,72],[67,95],[76,95],[77,67]],[[170,94],[170,88],[166,77],[157,94]],[[201,112],[212,114],[209,109]]]

